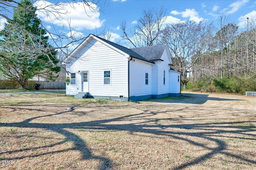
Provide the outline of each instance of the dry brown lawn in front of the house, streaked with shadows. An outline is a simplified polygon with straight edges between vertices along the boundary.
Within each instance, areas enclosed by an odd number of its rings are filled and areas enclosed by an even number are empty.
[[[0,94],[0,169],[255,170],[256,97],[183,95]]]

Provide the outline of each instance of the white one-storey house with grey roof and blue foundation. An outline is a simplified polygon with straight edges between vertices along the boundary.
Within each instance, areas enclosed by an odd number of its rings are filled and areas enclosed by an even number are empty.
[[[65,60],[66,95],[143,100],[180,96],[180,72],[167,45],[128,49],[90,34]]]

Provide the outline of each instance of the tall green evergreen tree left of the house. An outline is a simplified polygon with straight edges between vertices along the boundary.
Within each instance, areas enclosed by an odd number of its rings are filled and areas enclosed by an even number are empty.
[[[18,7],[22,8],[14,9],[12,21],[0,31],[0,73],[26,89],[28,79],[42,73],[51,77],[60,67],[57,51],[36,18],[36,7],[30,0],[22,0]]]

